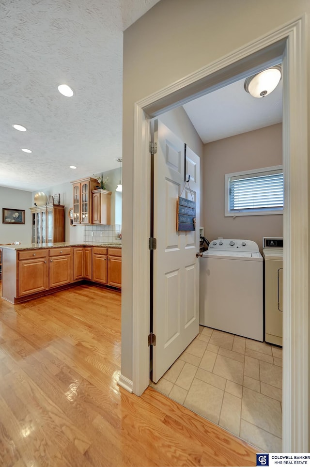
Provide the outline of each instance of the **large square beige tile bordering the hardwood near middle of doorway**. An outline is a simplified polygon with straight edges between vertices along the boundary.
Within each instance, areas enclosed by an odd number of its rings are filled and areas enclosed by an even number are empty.
[[[223,394],[221,389],[195,378],[184,405],[213,423],[218,423]]]

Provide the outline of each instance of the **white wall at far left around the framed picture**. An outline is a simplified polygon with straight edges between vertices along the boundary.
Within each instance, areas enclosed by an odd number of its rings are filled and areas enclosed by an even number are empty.
[[[31,192],[0,187],[0,244],[20,242],[31,243]],[[25,224],[3,224],[2,209],[24,209]]]

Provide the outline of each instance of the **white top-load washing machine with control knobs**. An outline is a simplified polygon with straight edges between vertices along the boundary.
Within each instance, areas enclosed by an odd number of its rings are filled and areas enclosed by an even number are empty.
[[[263,341],[263,257],[251,240],[213,240],[200,261],[200,324]]]

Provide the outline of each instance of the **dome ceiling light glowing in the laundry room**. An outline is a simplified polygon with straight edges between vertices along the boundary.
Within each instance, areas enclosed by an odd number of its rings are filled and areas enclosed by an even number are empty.
[[[256,75],[249,76],[244,82],[244,89],[253,97],[265,97],[278,86],[281,70],[281,65],[275,65]]]

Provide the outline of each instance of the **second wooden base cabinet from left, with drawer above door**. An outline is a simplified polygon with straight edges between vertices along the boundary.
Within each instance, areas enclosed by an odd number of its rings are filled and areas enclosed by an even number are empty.
[[[71,247],[49,250],[49,287],[72,282]]]

